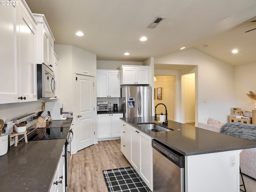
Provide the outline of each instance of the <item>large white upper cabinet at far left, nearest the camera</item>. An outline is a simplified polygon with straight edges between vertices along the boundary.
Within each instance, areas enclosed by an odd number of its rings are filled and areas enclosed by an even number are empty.
[[[24,0],[0,6],[0,17],[0,104],[36,101],[36,20]]]

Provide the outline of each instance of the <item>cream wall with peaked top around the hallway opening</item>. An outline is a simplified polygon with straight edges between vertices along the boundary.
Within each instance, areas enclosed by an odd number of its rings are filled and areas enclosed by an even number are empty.
[[[197,120],[206,122],[209,117],[227,122],[230,108],[234,106],[233,66],[194,48],[157,58],[155,64],[198,66],[194,70],[197,97],[196,122]],[[177,99],[179,97],[180,95],[177,95]]]

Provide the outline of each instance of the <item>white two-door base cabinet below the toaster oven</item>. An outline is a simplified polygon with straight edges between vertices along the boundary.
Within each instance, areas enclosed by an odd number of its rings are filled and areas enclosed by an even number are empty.
[[[120,137],[119,119],[122,113],[98,114],[98,138]]]

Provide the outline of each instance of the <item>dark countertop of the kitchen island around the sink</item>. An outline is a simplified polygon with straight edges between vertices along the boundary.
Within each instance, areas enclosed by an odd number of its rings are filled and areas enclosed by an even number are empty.
[[[180,152],[184,156],[256,148],[256,142],[197,128],[168,120],[168,128],[174,131],[151,132],[139,128],[137,123],[154,122],[154,117],[120,118],[152,138]]]

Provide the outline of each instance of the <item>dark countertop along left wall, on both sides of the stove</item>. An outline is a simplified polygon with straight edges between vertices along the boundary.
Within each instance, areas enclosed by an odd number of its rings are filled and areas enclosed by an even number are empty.
[[[70,127],[71,122],[72,118],[54,120],[49,127]],[[65,141],[39,140],[10,146],[7,154],[0,156],[0,191],[48,192]]]

